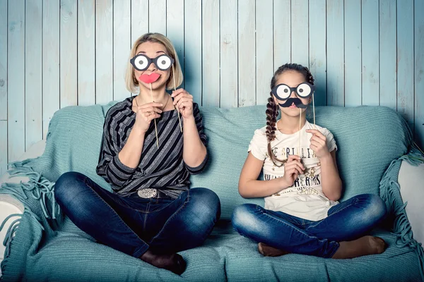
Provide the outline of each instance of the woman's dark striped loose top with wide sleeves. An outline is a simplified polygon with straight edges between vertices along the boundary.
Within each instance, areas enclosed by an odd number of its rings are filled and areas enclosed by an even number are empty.
[[[136,113],[132,111],[133,99],[134,97],[126,98],[107,111],[96,172],[120,195],[131,195],[143,188],[155,188],[177,198],[189,189],[190,174],[201,172],[208,155],[206,154],[204,161],[196,168],[184,164],[183,134],[179,129],[177,111],[173,110],[164,111],[160,118],[156,118],[159,149],[156,145],[155,123],[152,121],[144,137],[139,166],[130,168],[122,164],[118,154],[136,121]],[[193,103],[193,115],[201,142],[206,145],[202,118],[196,103]]]

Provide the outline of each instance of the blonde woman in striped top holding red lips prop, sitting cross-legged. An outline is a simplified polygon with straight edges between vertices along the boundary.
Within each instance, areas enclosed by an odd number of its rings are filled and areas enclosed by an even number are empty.
[[[127,89],[139,95],[115,104],[105,117],[97,173],[113,192],[76,172],[64,173],[55,188],[76,226],[175,274],[186,266],[176,252],[201,245],[220,217],[215,192],[189,189],[189,175],[201,172],[208,154],[192,95],[182,88],[165,92],[181,83],[170,40],[158,33],[139,37],[126,71]]]

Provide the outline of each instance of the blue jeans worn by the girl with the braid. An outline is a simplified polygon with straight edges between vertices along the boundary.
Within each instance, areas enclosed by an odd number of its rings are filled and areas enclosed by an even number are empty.
[[[332,257],[338,242],[361,237],[385,214],[386,205],[379,196],[363,194],[331,207],[320,221],[242,204],[232,214],[232,226],[247,238],[287,252]]]

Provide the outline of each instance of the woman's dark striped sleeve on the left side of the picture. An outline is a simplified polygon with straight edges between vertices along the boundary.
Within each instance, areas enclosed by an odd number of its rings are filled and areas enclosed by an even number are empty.
[[[118,188],[123,188],[129,181],[136,168],[130,168],[122,164],[119,160],[118,154],[121,151],[119,146],[120,137],[118,135],[118,128],[114,127],[113,118],[108,113],[103,126],[102,148],[100,150],[99,164],[96,172],[102,178]],[[119,190],[114,188],[114,190]]]

